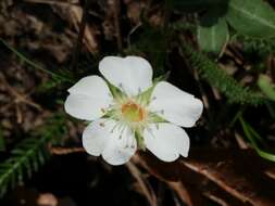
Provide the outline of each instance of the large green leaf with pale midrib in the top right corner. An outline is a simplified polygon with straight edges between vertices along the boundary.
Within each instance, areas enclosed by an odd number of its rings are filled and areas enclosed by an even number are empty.
[[[226,18],[240,34],[257,38],[275,36],[275,12],[262,0],[230,0]]]

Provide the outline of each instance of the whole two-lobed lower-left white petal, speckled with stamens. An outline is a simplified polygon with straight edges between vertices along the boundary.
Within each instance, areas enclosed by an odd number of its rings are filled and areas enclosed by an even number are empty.
[[[115,127],[117,121],[98,119],[91,123],[83,133],[83,145],[93,156],[102,155],[110,165],[127,163],[137,150],[137,142],[128,128]]]

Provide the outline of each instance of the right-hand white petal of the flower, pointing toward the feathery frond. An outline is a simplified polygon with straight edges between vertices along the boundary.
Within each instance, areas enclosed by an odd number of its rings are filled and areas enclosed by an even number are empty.
[[[166,81],[155,86],[149,105],[151,112],[157,112],[164,119],[182,127],[192,127],[202,108],[203,104],[199,99]]]

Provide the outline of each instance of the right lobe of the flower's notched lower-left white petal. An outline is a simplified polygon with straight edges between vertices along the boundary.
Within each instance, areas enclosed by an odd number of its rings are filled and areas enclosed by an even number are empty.
[[[117,128],[108,141],[102,157],[111,165],[127,163],[137,151],[137,142],[134,133],[126,128],[123,132]]]

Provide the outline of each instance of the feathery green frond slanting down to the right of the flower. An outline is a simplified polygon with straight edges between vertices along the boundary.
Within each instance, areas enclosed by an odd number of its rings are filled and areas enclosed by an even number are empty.
[[[225,70],[221,69],[217,64],[192,49],[189,44],[185,43],[182,47],[182,51],[187,56],[189,64],[198,70],[199,76],[224,93],[229,103],[255,106],[264,102],[260,93],[252,91],[248,87],[242,87],[232,76],[227,75]]]

